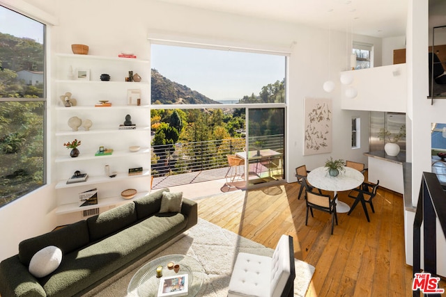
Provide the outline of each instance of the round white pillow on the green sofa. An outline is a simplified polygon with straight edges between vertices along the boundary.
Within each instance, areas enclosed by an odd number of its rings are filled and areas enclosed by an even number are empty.
[[[28,270],[36,278],[43,278],[55,271],[61,262],[62,250],[56,246],[47,246],[33,255]]]

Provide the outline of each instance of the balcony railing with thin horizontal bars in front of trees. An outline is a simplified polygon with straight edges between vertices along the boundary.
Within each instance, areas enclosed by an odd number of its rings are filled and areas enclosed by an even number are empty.
[[[261,141],[263,148],[272,150],[284,148],[283,134],[250,137],[248,150],[258,148],[255,145],[256,141]],[[229,166],[226,155],[242,152],[245,149],[246,138],[153,145],[151,172],[153,177],[164,177],[225,168]]]

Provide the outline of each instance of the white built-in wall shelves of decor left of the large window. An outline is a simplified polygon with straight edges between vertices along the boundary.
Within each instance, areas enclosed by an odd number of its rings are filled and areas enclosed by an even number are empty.
[[[140,82],[125,81],[129,71],[139,74]],[[77,73],[86,73],[86,79],[78,79]],[[72,75],[74,74],[74,75]],[[101,74],[109,74],[110,81],[101,81]],[[114,58],[102,56],[58,54],[56,55],[56,77],[54,81],[54,170],[59,182],[56,182],[58,207],[56,214],[67,214],[89,209],[100,209],[128,200],[121,198],[121,191],[135,188],[137,197],[150,191],[150,83],[151,70],[148,61],[133,58]],[[89,78],[88,78],[89,77]],[[133,100],[130,104],[128,93],[138,90],[141,93],[140,105]],[[61,96],[67,92],[76,99],[76,105],[64,106]],[[97,107],[100,100],[108,100],[112,106]],[[136,129],[118,129],[130,115]],[[91,120],[93,125],[87,131],[79,127],[72,131],[68,125],[71,117],[83,122]],[[70,157],[70,150],[63,143],[82,141],[78,147],[79,156]],[[129,147],[137,145],[137,152],[130,152]],[[99,147],[113,149],[113,153],[95,156]],[[116,177],[105,174],[105,166]],[[143,168],[141,175],[128,175],[129,168]],[[66,184],[68,178],[79,170],[87,173],[86,182]],[[79,193],[91,188],[98,189],[98,204],[79,207]]]

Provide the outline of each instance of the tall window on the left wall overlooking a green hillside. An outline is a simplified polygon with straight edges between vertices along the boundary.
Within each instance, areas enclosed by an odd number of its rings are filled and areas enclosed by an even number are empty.
[[[20,77],[26,72],[44,76],[45,25],[3,6],[0,19],[2,207],[45,184],[46,94],[45,83]]]

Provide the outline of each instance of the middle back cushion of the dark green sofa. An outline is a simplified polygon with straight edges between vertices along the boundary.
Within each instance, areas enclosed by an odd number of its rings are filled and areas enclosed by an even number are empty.
[[[90,241],[97,241],[105,236],[118,232],[137,221],[137,213],[133,203],[123,204],[120,207],[110,209],[87,218],[89,225]]]

